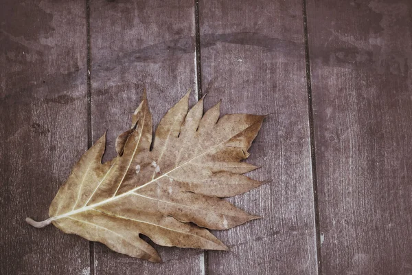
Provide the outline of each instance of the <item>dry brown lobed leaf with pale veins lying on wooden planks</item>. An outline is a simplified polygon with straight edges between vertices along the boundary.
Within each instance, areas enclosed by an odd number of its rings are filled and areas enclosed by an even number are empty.
[[[165,114],[153,142],[144,94],[131,128],[117,137],[117,157],[102,164],[106,135],[100,137],[58,190],[50,218],[26,221],[37,228],[53,223],[154,262],[159,254],[139,234],[164,246],[227,250],[205,228],[225,230],[258,218],[220,198],[262,184],[242,175],[257,167],[240,161],[249,156],[264,116],[219,118],[220,102],[203,115],[203,100],[188,111],[189,94]]]

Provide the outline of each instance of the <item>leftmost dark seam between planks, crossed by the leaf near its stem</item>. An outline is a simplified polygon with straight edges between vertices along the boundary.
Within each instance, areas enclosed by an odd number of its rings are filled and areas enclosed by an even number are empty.
[[[91,131],[91,39],[90,39],[90,0],[86,0],[86,35],[87,35],[87,148],[93,145]],[[89,274],[95,275],[95,250],[93,241],[89,241]]]

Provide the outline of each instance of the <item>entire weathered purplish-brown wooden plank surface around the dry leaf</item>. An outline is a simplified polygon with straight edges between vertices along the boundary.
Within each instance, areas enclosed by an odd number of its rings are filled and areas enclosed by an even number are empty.
[[[412,274],[412,1],[1,0],[0,274]],[[163,264],[37,230],[80,155],[148,89],[271,113],[230,201],[263,219],[230,252]]]

